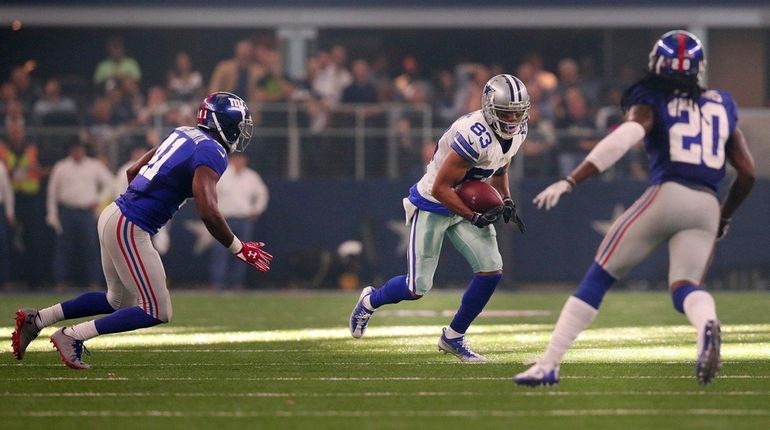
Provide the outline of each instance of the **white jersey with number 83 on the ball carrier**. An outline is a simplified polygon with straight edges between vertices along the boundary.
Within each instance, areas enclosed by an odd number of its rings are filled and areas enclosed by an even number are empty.
[[[459,118],[439,139],[425,175],[409,190],[409,201],[420,210],[453,215],[431,193],[436,175],[450,152],[457,153],[470,164],[463,180],[486,181],[508,165],[526,137],[527,128],[524,126],[522,132],[510,141],[500,140],[484,120],[481,110]]]

